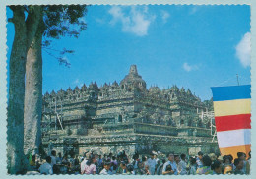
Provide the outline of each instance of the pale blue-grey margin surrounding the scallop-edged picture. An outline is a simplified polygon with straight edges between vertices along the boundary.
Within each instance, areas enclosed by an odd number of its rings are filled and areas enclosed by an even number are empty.
[[[251,136],[256,136],[256,1],[255,0],[4,0],[0,3],[0,178],[11,179],[11,178],[61,178],[61,179],[77,179],[77,178],[169,178],[169,176],[139,176],[139,175],[112,175],[112,176],[101,176],[101,175],[8,175],[7,174],[7,158],[6,158],[6,143],[7,143],[7,29],[6,29],[6,6],[7,5],[42,5],[42,4],[101,4],[101,5],[133,5],[133,4],[186,4],[186,5],[251,5],[251,97],[252,99],[252,117],[251,117]],[[252,149],[252,166],[256,168],[256,157],[254,157],[256,139],[252,138],[251,141]],[[256,154],[255,154],[256,155]],[[254,167],[255,165],[255,167]],[[171,176],[173,177],[173,176]],[[175,178],[254,178],[256,177],[256,171],[251,170],[250,175],[186,175],[186,176],[174,176]]]

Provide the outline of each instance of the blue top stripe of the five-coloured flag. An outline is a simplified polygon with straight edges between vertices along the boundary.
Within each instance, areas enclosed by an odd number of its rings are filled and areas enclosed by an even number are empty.
[[[213,100],[235,100],[251,98],[251,85],[212,87]]]

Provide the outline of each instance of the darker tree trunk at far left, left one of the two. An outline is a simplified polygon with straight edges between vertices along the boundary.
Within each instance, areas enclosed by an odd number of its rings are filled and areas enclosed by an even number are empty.
[[[27,53],[26,24],[23,9],[13,9],[12,22],[15,37],[10,57],[9,101],[7,112],[7,168],[8,173],[17,174],[24,168],[24,94],[25,64]]]

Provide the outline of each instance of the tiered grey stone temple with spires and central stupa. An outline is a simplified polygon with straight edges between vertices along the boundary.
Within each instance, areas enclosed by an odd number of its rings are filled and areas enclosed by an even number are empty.
[[[125,150],[197,154],[219,150],[212,100],[187,89],[146,88],[136,65],[118,84],[67,89],[43,96],[44,149],[82,154]]]

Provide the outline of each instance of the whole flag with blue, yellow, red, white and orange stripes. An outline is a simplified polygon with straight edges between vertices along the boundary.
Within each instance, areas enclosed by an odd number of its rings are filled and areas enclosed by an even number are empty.
[[[214,87],[217,140],[222,155],[251,150],[251,86]]]

